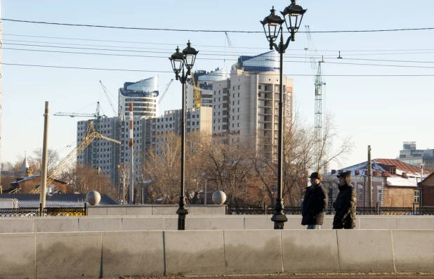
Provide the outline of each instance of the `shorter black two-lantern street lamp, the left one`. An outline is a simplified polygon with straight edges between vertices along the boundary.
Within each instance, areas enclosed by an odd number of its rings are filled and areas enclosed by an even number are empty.
[[[185,215],[188,214],[185,209],[185,196],[184,196],[184,176],[185,176],[185,82],[187,82],[188,75],[191,75],[193,65],[195,65],[196,56],[199,51],[191,47],[190,41],[188,41],[187,47],[183,52],[179,51],[179,47],[176,48],[176,53],[173,53],[169,58],[171,60],[172,69],[175,73],[176,80],[179,79],[183,84],[183,107],[181,110],[181,177],[180,177],[180,196],[179,196],[179,208],[176,211],[178,214],[178,230],[185,230]],[[187,72],[185,72],[185,67]],[[181,74],[182,72],[182,74]]]

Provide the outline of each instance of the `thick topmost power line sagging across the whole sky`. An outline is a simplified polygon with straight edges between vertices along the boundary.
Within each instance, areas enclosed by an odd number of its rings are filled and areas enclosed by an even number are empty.
[[[1,18],[0,20],[22,23],[34,23],[44,25],[62,25],[62,26],[75,26],[75,27],[96,27],[96,28],[110,28],[110,29],[123,29],[123,30],[150,30],[150,31],[173,31],[173,32],[213,32],[213,33],[263,33],[263,31],[241,31],[241,30],[186,30],[186,29],[169,29],[169,28],[147,28],[147,27],[121,27],[111,25],[85,25],[77,23],[60,23],[60,22],[46,22],[46,21],[32,21],[32,20],[13,20],[11,18]],[[383,30],[332,30],[332,31],[311,31],[310,33],[356,33],[356,32],[397,32],[397,31],[416,31],[416,30],[434,30],[434,27],[422,28],[400,28],[400,29],[383,29]],[[298,33],[305,33],[299,31]]]

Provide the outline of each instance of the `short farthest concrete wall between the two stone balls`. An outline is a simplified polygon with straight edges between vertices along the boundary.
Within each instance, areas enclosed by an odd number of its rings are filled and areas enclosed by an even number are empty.
[[[94,215],[176,215],[178,205],[95,205],[88,207]],[[225,215],[225,205],[185,205],[191,215]]]

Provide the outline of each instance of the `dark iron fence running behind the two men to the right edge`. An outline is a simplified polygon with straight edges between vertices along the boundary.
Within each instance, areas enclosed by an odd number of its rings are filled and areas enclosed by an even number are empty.
[[[261,215],[274,214],[275,208],[270,206],[263,207],[237,207],[228,205],[228,214]],[[285,215],[301,215],[301,207],[285,207]],[[326,215],[334,215],[333,207],[329,207],[324,212]],[[356,207],[357,215],[434,215],[434,207]]]

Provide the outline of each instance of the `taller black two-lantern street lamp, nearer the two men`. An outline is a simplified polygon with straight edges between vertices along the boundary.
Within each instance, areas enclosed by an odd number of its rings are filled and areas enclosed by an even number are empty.
[[[275,206],[275,214],[272,216],[271,221],[275,222],[275,229],[283,229],[284,222],[288,221],[287,216],[285,216],[283,209],[282,200],[282,173],[283,173],[283,131],[284,131],[284,119],[283,119],[283,53],[288,48],[289,41],[295,41],[296,32],[300,28],[301,20],[303,15],[307,10],[303,10],[301,6],[296,4],[296,0],[291,0],[291,5],[287,6],[282,13],[284,19],[276,15],[275,7],[273,6],[270,10],[270,15],[268,15],[264,20],[261,21],[263,25],[265,37],[267,37],[270,42],[270,49],[273,47],[280,53],[280,92],[279,92],[279,143],[277,148],[277,199]],[[287,20],[288,18],[288,20]],[[289,38],[286,43],[283,39],[283,28],[282,24],[285,22],[287,30],[290,33]],[[277,46],[275,41],[280,34],[280,44]]]

